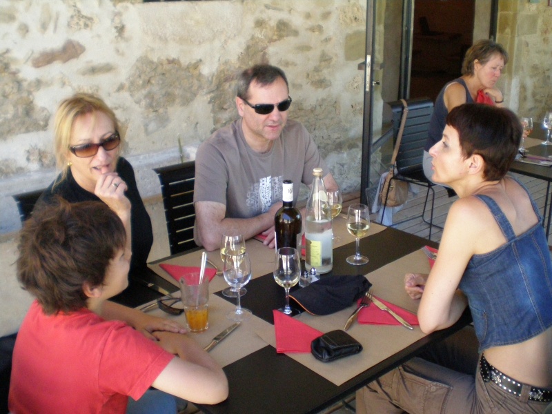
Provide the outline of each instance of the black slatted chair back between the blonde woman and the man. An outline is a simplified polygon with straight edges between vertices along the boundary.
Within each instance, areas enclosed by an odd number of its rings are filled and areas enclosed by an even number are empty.
[[[154,168],[161,181],[170,254],[196,248],[194,242],[195,161]]]

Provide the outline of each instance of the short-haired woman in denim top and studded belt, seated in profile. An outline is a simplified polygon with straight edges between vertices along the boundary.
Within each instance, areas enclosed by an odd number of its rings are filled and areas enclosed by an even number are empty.
[[[357,393],[357,413],[542,413],[552,402],[549,246],[535,202],[506,177],[521,135],[504,108],[466,103],[447,116],[430,150],[433,177],[460,199],[431,273],[408,273],[405,288],[421,298],[424,333],[452,326],[469,305],[478,340],[457,335],[442,357],[415,357],[371,382]],[[469,345],[478,364],[466,358]],[[467,364],[471,373],[456,368]]]

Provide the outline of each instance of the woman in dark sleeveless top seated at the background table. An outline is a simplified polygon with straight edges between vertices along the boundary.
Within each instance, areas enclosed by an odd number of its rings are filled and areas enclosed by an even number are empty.
[[[480,40],[466,51],[462,62],[462,76],[446,83],[435,100],[429,123],[428,139],[424,147],[424,174],[433,181],[429,148],[440,141],[446,115],[462,103],[488,103],[502,106],[504,96],[496,83],[508,63],[508,52],[500,43]]]

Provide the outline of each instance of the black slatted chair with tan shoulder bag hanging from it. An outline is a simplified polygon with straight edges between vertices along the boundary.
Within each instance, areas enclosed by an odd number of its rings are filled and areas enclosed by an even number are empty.
[[[432,226],[439,227],[433,224],[433,207],[435,204],[435,184],[429,181],[424,174],[423,159],[424,159],[424,145],[427,140],[427,132],[429,128],[429,121],[433,114],[433,101],[428,98],[407,99],[408,103],[408,117],[406,117],[406,124],[404,126],[404,132],[397,154],[397,175],[393,177],[393,180],[405,181],[408,184],[417,184],[427,188],[426,199],[424,201],[424,209],[421,215],[415,217],[408,217],[397,223],[393,223],[392,226],[404,223],[412,219],[422,217],[422,220],[429,224],[429,239],[431,239]],[[393,101],[388,103],[393,111],[393,144],[397,140],[397,134],[399,132],[401,118],[402,118],[402,102]],[[392,180],[392,181],[393,181]],[[389,186],[391,187],[391,186]],[[431,213],[429,221],[425,217],[426,206],[431,191]],[[382,217],[385,213],[385,208],[382,212]]]

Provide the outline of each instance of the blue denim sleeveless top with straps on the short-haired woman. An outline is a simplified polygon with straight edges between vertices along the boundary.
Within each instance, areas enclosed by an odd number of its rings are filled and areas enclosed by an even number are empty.
[[[460,281],[482,352],[524,342],[552,326],[552,262],[540,222],[516,237],[491,197],[475,197],[489,207],[507,239],[492,252],[473,255]],[[531,204],[542,220],[533,199]]]

